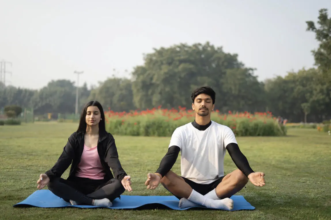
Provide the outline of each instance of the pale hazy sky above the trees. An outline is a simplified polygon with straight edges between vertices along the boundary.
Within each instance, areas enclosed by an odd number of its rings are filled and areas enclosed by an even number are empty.
[[[210,41],[263,81],[313,67],[306,21],[321,8],[331,16],[330,0],[0,0],[0,60],[12,63],[6,85],[40,89],[84,71],[79,85],[91,86],[130,77],[153,48]]]

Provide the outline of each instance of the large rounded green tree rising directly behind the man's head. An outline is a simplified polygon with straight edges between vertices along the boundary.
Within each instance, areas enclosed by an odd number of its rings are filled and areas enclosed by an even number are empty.
[[[242,88],[245,82],[252,82],[252,91],[262,89],[252,69],[238,61],[237,54],[225,53],[222,47],[215,47],[209,42],[154,48],[153,53],[145,55],[144,61],[144,65],[137,66],[132,72],[133,99],[138,108],[160,105],[163,108],[191,108],[192,91],[204,85],[215,90],[216,109],[236,108],[231,106],[234,104],[234,91],[236,96],[242,96],[238,102],[243,102],[240,106],[244,108],[254,105],[254,97],[245,97],[249,91],[248,86]],[[240,91],[236,90],[237,86],[232,90],[225,88],[227,83],[235,82],[232,80],[236,77],[243,82]]]

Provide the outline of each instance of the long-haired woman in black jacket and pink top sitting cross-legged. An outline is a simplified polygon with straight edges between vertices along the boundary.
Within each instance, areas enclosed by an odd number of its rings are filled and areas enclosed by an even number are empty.
[[[62,179],[70,164],[68,179]],[[50,191],[72,205],[110,207],[125,189],[132,191],[131,178],[118,160],[115,139],[106,131],[105,114],[99,102],[86,104],[77,131],[69,137],[53,168],[40,174],[37,184],[38,189],[47,185]]]

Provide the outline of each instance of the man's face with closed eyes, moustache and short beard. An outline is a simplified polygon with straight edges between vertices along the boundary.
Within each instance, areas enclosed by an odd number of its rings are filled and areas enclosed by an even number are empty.
[[[200,94],[192,103],[192,109],[200,116],[207,116],[214,109],[213,100],[206,94]]]

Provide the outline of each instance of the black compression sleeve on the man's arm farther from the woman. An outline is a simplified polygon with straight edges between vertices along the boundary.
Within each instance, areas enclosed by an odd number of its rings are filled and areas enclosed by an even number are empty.
[[[249,166],[247,158],[245,155],[240,151],[238,144],[230,143],[226,146],[226,149],[229,152],[230,157],[232,158],[235,165],[241,170],[246,177],[251,173],[254,173],[252,168]]]

